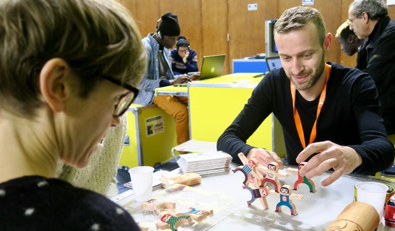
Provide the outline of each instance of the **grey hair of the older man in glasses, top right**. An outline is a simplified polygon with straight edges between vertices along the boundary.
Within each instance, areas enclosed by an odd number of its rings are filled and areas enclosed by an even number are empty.
[[[355,0],[349,9],[354,10],[354,16],[360,18],[363,12],[368,14],[371,20],[379,20],[388,15],[388,6],[383,0]]]

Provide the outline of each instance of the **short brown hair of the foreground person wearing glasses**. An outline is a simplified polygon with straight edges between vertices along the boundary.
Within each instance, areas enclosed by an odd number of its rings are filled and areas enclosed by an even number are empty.
[[[87,97],[110,75],[138,85],[146,67],[141,35],[130,13],[111,0],[0,1],[0,108],[34,115],[39,74],[52,58],[68,63]]]

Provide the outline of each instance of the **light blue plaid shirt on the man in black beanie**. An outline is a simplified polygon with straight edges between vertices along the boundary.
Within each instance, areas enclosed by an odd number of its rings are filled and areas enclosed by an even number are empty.
[[[147,51],[147,70],[144,74],[140,85],[140,92],[137,95],[137,98],[134,103],[141,105],[150,105],[154,101],[155,97],[155,89],[159,87],[159,60],[158,60],[158,50],[159,44],[152,37],[153,33],[147,35],[147,37],[143,38],[141,42]],[[173,80],[174,75],[171,70],[171,53],[168,48],[163,48],[163,53],[165,54],[165,60],[167,63],[167,72],[169,80]]]

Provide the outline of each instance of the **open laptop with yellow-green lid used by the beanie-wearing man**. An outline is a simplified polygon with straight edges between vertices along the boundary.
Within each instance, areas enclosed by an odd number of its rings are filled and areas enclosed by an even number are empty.
[[[202,68],[200,69],[200,80],[222,75],[224,68],[225,54],[203,56]],[[174,86],[187,86],[188,83],[175,84]]]

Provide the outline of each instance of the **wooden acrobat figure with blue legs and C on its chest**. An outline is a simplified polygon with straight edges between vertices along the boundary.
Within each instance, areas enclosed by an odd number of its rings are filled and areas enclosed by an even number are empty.
[[[280,197],[280,202],[277,203],[277,205],[276,205],[276,210],[275,210],[276,212],[281,211],[281,206],[286,206],[286,207],[290,208],[291,215],[293,215],[293,216],[298,215],[298,212],[296,211],[296,206],[292,202],[292,199],[293,200],[300,200],[304,197],[303,195],[292,194],[291,186],[289,186],[289,185],[283,185],[280,188],[280,192],[276,192],[275,190],[271,189],[269,191],[269,193],[272,195],[275,195],[277,197]]]

